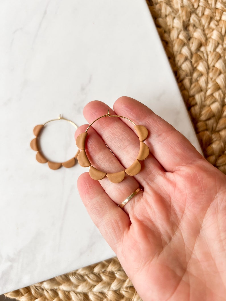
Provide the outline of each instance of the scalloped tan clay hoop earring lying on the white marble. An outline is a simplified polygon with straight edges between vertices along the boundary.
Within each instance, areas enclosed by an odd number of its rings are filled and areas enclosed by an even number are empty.
[[[34,150],[34,151],[37,151],[37,154],[36,154],[36,160],[39,162],[39,163],[47,163],[48,162],[48,165],[49,165],[49,168],[50,169],[59,169],[61,166],[64,166],[64,167],[67,167],[67,168],[70,168],[72,166],[75,165],[75,160],[77,159],[77,156],[78,154],[80,153],[80,150],[77,151],[77,154],[71,158],[70,160],[66,161],[66,162],[63,162],[63,163],[59,163],[59,162],[52,162],[52,161],[49,161],[41,152],[40,150],[40,144],[39,144],[39,140],[40,140],[40,134],[41,132],[44,130],[45,128],[45,125],[49,122],[52,122],[52,121],[56,121],[56,120],[66,120],[68,121],[69,123],[71,123],[73,126],[75,126],[75,128],[77,129],[77,125],[72,122],[71,120],[69,119],[65,119],[63,117],[61,117],[61,115],[57,118],[57,119],[51,119],[49,121],[47,121],[46,123],[44,124],[39,124],[37,126],[34,127],[33,129],[33,132],[34,132],[34,135],[36,136],[31,142],[30,142],[30,147]]]

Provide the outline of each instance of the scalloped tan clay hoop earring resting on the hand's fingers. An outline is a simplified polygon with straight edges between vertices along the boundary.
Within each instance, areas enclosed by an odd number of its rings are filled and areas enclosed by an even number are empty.
[[[89,159],[86,155],[86,147],[85,147],[85,143],[86,143],[86,137],[88,135],[88,129],[90,128],[90,126],[92,126],[92,124],[94,122],[96,122],[97,120],[99,120],[102,117],[120,117],[120,118],[124,118],[128,121],[130,121],[131,123],[133,123],[134,125],[134,129],[137,132],[137,135],[139,137],[140,140],[140,151],[139,154],[136,158],[136,160],[133,162],[133,164],[128,167],[127,169],[124,169],[123,171],[120,172],[115,172],[115,173],[107,173],[104,171],[100,171],[98,169],[96,169],[95,167],[92,166],[92,164],[89,162]],[[82,167],[89,167],[89,175],[91,176],[91,178],[93,178],[94,180],[101,180],[103,178],[105,178],[105,176],[108,177],[108,179],[112,182],[112,183],[119,183],[121,182],[124,177],[125,174],[127,175],[137,175],[140,170],[141,170],[141,164],[140,161],[141,160],[145,160],[148,155],[149,155],[149,147],[147,146],[147,144],[145,144],[143,141],[147,138],[148,136],[148,130],[146,129],[145,126],[137,126],[133,121],[131,121],[130,119],[124,117],[124,116],[118,116],[118,115],[111,115],[109,113],[108,110],[108,114],[105,114],[103,116],[100,116],[99,118],[97,118],[96,120],[94,120],[86,129],[86,131],[84,133],[81,133],[77,139],[76,139],[76,145],[78,148],[80,148],[80,153],[78,154],[78,163],[82,166]]]

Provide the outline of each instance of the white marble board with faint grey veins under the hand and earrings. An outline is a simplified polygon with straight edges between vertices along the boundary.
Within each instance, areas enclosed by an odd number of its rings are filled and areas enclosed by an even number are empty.
[[[77,192],[84,169],[38,163],[35,125],[127,95],[200,148],[145,0],[8,0],[0,20],[1,294],[115,255]],[[42,146],[73,157],[73,126],[49,124]]]

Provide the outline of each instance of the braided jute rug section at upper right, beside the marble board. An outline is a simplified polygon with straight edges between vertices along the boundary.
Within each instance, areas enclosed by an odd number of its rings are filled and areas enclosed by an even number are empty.
[[[147,2],[204,156],[226,174],[226,1]]]

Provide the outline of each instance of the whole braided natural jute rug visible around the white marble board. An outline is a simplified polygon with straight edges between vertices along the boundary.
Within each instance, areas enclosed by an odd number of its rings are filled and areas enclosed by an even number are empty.
[[[204,156],[226,174],[226,1],[147,3]],[[141,300],[117,258],[5,295],[21,301]]]

